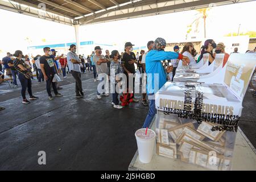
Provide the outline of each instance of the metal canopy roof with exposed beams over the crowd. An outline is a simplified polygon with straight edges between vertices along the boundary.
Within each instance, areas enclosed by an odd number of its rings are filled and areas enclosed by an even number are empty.
[[[91,24],[253,0],[0,0],[0,9],[64,24]]]

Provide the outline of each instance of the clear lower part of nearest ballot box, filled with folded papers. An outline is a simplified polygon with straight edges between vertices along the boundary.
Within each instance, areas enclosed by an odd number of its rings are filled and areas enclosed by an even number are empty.
[[[236,131],[217,130],[217,126],[222,125],[210,121],[199,123],[158,110],[156,154],[208,169],[230,170]],[[216,130],[212,131],[214,127]]]

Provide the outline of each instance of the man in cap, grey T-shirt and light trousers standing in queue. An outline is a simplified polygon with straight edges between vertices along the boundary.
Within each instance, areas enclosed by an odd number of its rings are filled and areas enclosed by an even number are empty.
[[[106,57],[104,55],[101,55],[102,53],[102,48],[100,46],[96,46],[94,48],[95,51],[95,55],[93,56],[93,62],[96,65],[97,68],[97,73],[98,75],[100,74],[106,74],[108,75],[108,59],[106,59]],[[100,82],[103,82],[106,79],[106,77],[102,77]],[[97,98],[101,99],[101,94],[102,96],[109,96],[109,94],[107,93],[109,90],[105,90],[105,86],[102,85],[102,90],[104,90],[103,93],[100,93],[98,88],[97,88]]]

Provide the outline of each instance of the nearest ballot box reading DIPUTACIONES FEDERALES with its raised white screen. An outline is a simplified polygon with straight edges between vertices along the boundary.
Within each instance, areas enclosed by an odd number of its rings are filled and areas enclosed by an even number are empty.
[[[220,84],[167,82],[155,94],[156,154],[230,170],[242,100],[255,65],[256,54],[233,54]]]

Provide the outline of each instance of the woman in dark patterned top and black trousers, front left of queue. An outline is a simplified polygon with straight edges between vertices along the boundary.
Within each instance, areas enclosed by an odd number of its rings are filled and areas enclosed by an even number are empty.
[[[30,104],[28,100],[36,100],[38,97],[33,96],[32,94],[32,84],[31,84],[31,76],[32,72],[30,67],[25,63],[24,59],[22,58],[22,51],[15,51],[14,56],[16,59],[14,60],[14,68],[19,72],[18,77],[20,84],[22,85],[21,95],[22,95],[22,103],[23,104]],[[26,98],[26,90],[28,94],[30,94],[30,98],[27,100]]]

